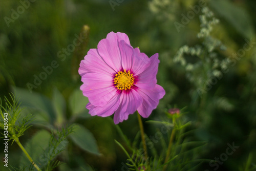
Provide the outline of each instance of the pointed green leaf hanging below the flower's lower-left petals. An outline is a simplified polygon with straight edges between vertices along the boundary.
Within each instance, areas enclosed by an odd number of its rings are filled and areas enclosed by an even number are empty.
[[[98,146],[93,134],[79,124],[73,126],[73,133],[69,137],[84,151],[99,155]]]

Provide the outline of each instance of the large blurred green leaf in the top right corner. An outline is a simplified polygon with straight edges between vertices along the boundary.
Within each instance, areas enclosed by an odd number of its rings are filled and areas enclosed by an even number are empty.
[[[252,20],[245,9],[242,9],[230,1],[215,0],[209,2],[212,10],[219,13],[242,36],[250,38],[254,34]]]

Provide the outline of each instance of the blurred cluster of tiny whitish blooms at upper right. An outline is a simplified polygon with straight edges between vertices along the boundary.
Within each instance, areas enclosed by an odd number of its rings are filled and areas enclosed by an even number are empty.
[[[181,47],[174,62],[181,63],[186,70],[186,76],[196,88],[204,90],[204,87],[212,81],[212,78],[222,78],[223,73],[228,65],[228,58],[220,57],[217,50],[225,50],[222,42],[210,35],[214,25],[219,23],[219,20],[214,17],[214,14],[207,8],[202,9],[200,15],[200,32],[198,38],[202,38],[201,45]]]

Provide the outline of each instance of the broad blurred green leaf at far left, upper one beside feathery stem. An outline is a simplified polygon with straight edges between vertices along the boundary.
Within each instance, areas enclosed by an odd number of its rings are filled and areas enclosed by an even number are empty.
[[[15,97],[20,98],[20,102],[22,102],[20,106],[26,106],[33,113],[34,122],[40,122],[42,119],[45,119],[46,122],[53,122],[55,114],[50,99],[39,93],[30,93],[22,88],[13,87],[13,91]]]

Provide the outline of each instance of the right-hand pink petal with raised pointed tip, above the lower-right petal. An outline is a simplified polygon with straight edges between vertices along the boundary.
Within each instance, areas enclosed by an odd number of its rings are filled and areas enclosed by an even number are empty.
[[[136,86],[141,89],[153,89],[157,83],[158,53],[150,57],[150,66],[138,75]]]

